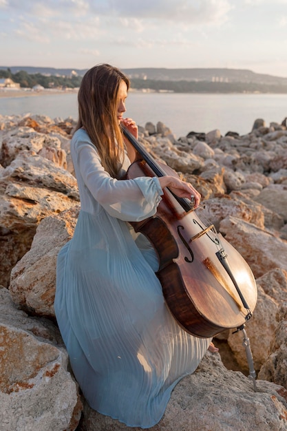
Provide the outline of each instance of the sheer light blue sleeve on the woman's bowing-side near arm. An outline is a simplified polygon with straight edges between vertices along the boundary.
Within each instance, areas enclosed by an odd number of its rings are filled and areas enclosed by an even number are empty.
[[[80,195],[82,180],[109,215],[124,221],[140,221],[156,213],[163,194],[157,177],[131,180],[111,178],[85,132],[81,139],[72,140],[71,151]]]

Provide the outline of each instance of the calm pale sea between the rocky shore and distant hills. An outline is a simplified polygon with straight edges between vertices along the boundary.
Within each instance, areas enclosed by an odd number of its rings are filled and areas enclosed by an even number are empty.
[[[251,132],[257,118],[266,124],[281,123],[287,117],[287,94],[190,94],[129,92],[125,116],[138,125],[162,121],[177,137],[193,132],[220,129],[240,135]],[[0,114],[43,114],[63,119],[78,116],[77,95],[0,98]]]

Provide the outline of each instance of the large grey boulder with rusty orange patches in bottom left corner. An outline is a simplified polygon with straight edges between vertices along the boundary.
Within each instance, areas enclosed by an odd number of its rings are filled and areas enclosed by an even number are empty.
[[[19,311],[0,288],[1,431],[76,430],[82,405],[67,365],[56,326]]]

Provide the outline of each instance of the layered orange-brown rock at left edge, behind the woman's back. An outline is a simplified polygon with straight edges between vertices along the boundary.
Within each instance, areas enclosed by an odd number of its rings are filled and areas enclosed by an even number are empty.
[[[51,154],[47,151],[46,147],[45,156]],[[8,286],[12,267],[30,249],[39,222],[78,205],[76,178],[54,160],[27,149],[13,153],[12,158],[10,165],[0,170],[0,284],[3,286]]]

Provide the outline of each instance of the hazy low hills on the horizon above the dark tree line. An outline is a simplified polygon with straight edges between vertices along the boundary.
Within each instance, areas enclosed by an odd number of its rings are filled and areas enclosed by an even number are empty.
[[[87,69],[56,69],[54,67],[28,67],[28,66],[0,66],[0,70],[10,69],[13,74],[23,70],[28,74],[50,74],[70,76],[76,72],[83,76]],[[257,74],[251,70],[224,69],[224,68],[192,68],[192,69],[166,69],[157,67],[140,67],[123,69],[131,79],[151,81],[194,81],[217,83],[257,83],[264,85],[287,85],[287,77]]]

